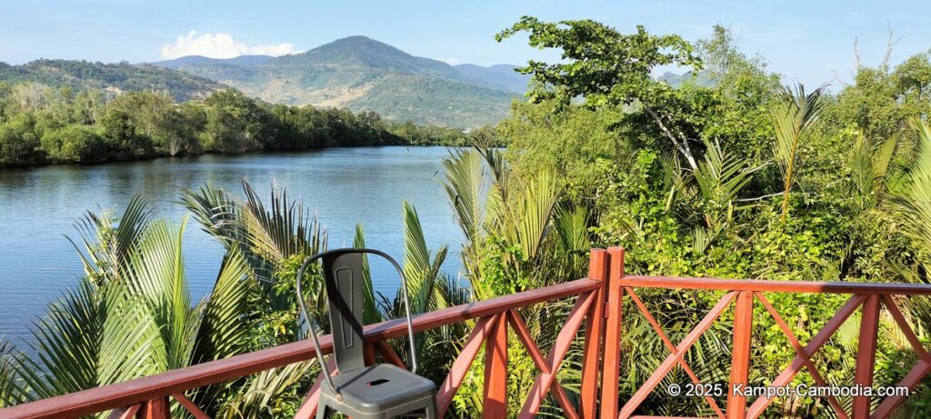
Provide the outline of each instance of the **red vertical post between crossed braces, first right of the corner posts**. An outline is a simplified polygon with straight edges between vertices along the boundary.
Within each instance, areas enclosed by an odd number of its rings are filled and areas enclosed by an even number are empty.
[[[728,419],[747,417],[747,397],[735,389],[748,385],[750,368],[750,337],[753,333],[753,291],[737,294],[734,309],[734,349],[731,359],[731,381],[727,385]]]

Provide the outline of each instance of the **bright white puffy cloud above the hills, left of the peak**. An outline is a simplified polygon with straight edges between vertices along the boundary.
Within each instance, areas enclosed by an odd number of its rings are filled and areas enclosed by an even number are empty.
[[[162,59],[171,60],[187,55],[202,55],[209,58],[233,58],[240,55],[279,56],[294,52],[294,44],[248,46],[233,39],[230,34],[197,34],[191,31],[178,36],[174,44],[162,46]]]

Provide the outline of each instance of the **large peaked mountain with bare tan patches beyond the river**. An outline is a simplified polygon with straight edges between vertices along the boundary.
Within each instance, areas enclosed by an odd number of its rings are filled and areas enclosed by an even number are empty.
[[[264,101],[341,106],[460,128],[504,118],[528,80],[511,65],[453,67],[365,36],[277,58],[192,56],[152,64],[233,86]]]

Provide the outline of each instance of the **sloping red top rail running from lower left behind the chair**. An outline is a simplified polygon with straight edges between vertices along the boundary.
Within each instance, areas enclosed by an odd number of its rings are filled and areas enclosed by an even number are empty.
[[[482,318],[503,313],[527,305],[558,300],[572,295],[594,291],[602,286],[597,279],[582,278],[548,287],[505,295],[472,304],[456,305],[413,318],[414,331],[425,331],[439,326]],[[388,320],[366,326],[363,335],[366,343],[384,341],[407,332],[405,319]],[[320,337],[320,349],[332,351],[331,335]],[[74,417],[95,412],[105,412],[142,403],[150,399],[166,397],[174,393],[222,383],[238,377],[263,372],[314,357],[314,349],[305,342],[263,349],[232,358],[209,361],[179,370],[130,380],[115,385],[104,385],[50,399],[37,400],[0,409],[0,417],[53,418]]]

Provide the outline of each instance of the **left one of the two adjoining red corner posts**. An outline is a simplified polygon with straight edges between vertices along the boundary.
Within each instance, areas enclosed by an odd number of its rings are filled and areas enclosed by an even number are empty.
[[[582,361],[582,417],[596,417],[598,379],[601,366],[601,335],[604,329],[604,300],[608,286],[608,252],[592,249],[588,262],[588,277],[600,280],[604,287],[596,291],[585,324],[585,355]]]

